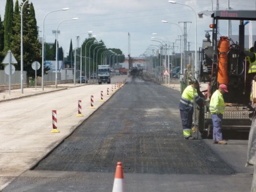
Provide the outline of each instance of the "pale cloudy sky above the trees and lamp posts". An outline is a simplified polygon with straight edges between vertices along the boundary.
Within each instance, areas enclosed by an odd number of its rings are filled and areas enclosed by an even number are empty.
[[[15,5],[14,0],[14,5]],[[19,0],[19,4],[22,0]],[[179,24],[183,29],[183,22],[187,22],[187,42],[190,47],[187,50],[195,50],[195,12],[203,10],[216,10],[216,0],[177,0],[188,6],[169,3],[168,0],[29,0],[33,3],[39,36],[43,36],[43,20],[48,12],[61,10],[68,7],[67,11],[55,11],[49,13],[44,20],[44,36],[47,43],[54,43],[56,36],[53,30],[60,31],[58,35],[59,46],[67,56],[72,39],[73,48],[76,47],[76,36],[80,36],[77,47],[88,37],[88,31],[96,35],[97,39],[104,41],[106,48],[119,48],[125,56],[129,53],[132,57],[143,55],[148,47],[159,46],[159,41],[169,41],[174,45],[174,51],[180,52],[181,35]],[[231,7],[234,10],[255,10],[256,1],[246,0],[242,4],[240,0],[219,0],[219,9],[226,10]],[[3,20],[5,15],[6,0],[0,0],[0,15]],[[195,12],[194,12],[195,11]],[[69,20],[79,18],[77,20]],[[63,22],[64,20],[68,20]],[[167,20],[171,23],[163,23]],[[212,22],[210,16],[203,19],[197,17],[197,50],[205,39],[205,31],[209,31]],[[255,24],[253,23],[253,27]],[[227,22],[221,24],[220,34],[226,36]],[[232,23],[232,35],[238,35],[238,24]],[[249,30],[246,29],[246,34]],[[255,31],[255,30],[254,30]],[[153,33],[159,35],[152,35]],[[130,34],[130,38],[128,37]],[[254,34],[255,35],[255,34]],[[151,39],[155,37],[157,39]],[[130,43],[129,43],[130,39]],[[156,41],[152,41],[156,40]]]

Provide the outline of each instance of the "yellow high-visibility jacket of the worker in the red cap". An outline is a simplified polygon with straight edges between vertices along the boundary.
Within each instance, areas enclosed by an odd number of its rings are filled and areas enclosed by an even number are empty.
[[[224,114],[225,102],[223,95],[220,91],[216,90],[210,98],[210,113],[211,114]]]

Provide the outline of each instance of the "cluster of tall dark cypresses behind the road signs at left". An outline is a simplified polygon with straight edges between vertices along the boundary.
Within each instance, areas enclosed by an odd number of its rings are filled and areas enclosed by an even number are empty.
[[[4,59],[7,51],[11,50],[18,64],[15,69],[20,70],[20,20],[21,7],[26,0],[20,3],[18,0],[13,5],[13,0],[6,0],[5,17],[0,15],[0,62]],[[35,77],[35,70],[31,68],[34,61],[42,61],[42,44],[38,40],[38,26],[35,18],[33,3],[26,2],[23,6],[23,66],[28,77]],[[41,62],[40,62],[41,63]],[[5,64],[0,63],[0,69]],[[47,69],[45,70],[47,71]],[[41,70],[37,71],[37,76],[42,76]]]

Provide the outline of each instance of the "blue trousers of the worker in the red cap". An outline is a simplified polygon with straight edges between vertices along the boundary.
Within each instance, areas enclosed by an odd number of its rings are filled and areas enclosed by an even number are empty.
[[[213,123],[213,140],[222,141],[222,132],[221,132],[221,121],[222,114],[212,114],[212,123]]]

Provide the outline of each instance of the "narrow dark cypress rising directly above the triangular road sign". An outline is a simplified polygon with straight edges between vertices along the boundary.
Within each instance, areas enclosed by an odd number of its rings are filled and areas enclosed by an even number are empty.
[[[7,52],[10,49],[10,35],[13,32],[13,0],[6,0],[5,20],[3,20],[3,27],[5,31],[4,50]]]

